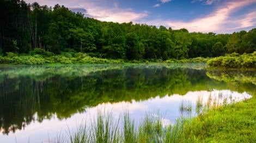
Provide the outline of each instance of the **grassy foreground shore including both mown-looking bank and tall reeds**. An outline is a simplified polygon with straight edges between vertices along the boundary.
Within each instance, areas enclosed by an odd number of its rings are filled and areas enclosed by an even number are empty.
[[[82,124],[58,142],[255,142],[256,98],[213,107],[192,119],[163,126],[161,115],[145,115],[137,125],[129,112],[113,120],[111,113],[97,113],[93,126]],[[181,108],[184,106],[181,106]],[[120,129],[121,128],[121,129]]]

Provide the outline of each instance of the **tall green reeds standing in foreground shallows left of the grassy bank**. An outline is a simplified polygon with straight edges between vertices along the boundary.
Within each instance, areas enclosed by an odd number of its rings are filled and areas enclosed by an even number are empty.
[[[185,122],[188,120],[181,118],[175,124],[164,126],[162,116],[146,114],[136,126],[129,112],[124,113],[121,122],[115,121],[111,113],[98,111],[92,126],[81,123],[75,130],[69,129],[68,140],[58,136],[57,142],[184,142],[188,140],[183,132]]]

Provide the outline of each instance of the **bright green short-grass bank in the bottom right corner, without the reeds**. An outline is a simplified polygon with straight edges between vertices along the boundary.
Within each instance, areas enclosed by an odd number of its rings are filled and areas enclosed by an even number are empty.
[[[211,109],[186,126],[187,137],[199,142],[255,142],[256,98]]]

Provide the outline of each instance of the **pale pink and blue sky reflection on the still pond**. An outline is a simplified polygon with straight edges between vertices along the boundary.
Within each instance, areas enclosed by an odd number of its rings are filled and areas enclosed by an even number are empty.
[[[199,98],[198,98],[199,97]],[[203,105],[208,103],[209,97],[211,97],[211,104],[215,101],[222,104],[224,100],[227,103],[241,101],[251,98],[251,95],[246,92],[240,94],[237,92],[231,92],[230,90],[213,90],[212,92],[200,91],[200,92],[188,92],[186,95],[180,96],[174,94],[172,96],[164,96],[163,98],[151,98],[145,101],[132,101],[132,102],[118,102],[118,103],[103,103],[96,107],[87,108],[84,113],[77,113],[71,116],[71,118],[59,120],[56,115],[50,120],[44,120],[41,123],[38,121],[31,122],[30,125],[25,127],[25,130],[17,130],[15,133],[9,133],[9,135],[2,135],[0,137],[1,142],[54,142],[60,134],[68,137],[68,128],[72,130],[87,120],[87,125],[90,124],[90,119],[96,115],[99,109],[105,110],[105,112],[112,112],[114,119],[118,119],[121,114],[121,120],[123,120],[122,114],[129,109],[129,113],[132,119],[137,124],[141,121],[146,113],[152,113],[153,117],[156,117],[157,113],[163,118],[164,124],[172,124],[181,116],[180,106],[182,101],[189,102],[192,106],[192,111],[188,114],[194,116],[196,112],[196,103],[198,99],[202,100]],[[34,115],[36,118],[36,115]]]

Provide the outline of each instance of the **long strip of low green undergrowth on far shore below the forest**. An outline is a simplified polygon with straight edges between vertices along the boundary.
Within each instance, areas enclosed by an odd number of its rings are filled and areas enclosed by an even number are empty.
[[[30,54],[18,55],[15,53],[7,53],[6,56],[0,56],[0,64],[75,64],[75,63],[196,63],[207,62],[209,58],[197,57],[194,59],[176,60],[169,59],[166,61],[160,60],[123,60],[123,59],[102,59],[99,57],[91,57],[83,53],[67,53],[63,52],[60,55],[44,50],[33,50]]]

